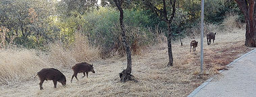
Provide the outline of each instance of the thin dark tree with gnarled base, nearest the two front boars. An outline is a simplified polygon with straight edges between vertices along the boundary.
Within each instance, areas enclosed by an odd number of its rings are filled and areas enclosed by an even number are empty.
[[[130,74],[132,72],[132,58],[131,58],[131,52],[130,52],[130,46],[128,42],[126,42],[126,32],[124,28],[124,10],[122,9],[122,3],[124,0],[113,0],[116,4],[116,7],[118,7],[118,10],[120,11],[120,28],[122,30],[122,42],[126,46],[126,56],[127,56],[127,67],[124,69],[121,73],[119,73],[121,82],[126,82],[128,80],[131,80],[130,77],[132,75]]]

